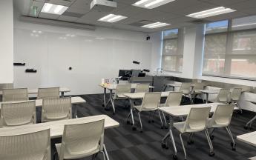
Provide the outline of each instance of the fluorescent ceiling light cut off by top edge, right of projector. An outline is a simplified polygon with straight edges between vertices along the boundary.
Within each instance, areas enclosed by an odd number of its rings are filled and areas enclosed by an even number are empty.
[[[155,7],[159,7],[163,4],[168,4],[171,1],[175,1],[175,0],[140,0],[137,1],[136,3],[132,4],[136,7],[143,7],[143,8],[147,8],[147,9],[152,9]]]

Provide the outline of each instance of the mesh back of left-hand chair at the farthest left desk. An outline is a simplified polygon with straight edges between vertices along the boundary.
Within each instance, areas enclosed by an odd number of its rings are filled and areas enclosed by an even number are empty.
[[[3,101],[27,101],[27,88],[3,89]]]

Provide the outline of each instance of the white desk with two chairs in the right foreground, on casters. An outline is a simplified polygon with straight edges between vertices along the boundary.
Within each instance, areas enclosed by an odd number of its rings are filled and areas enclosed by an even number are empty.
[[[174,141],[174,136],[172,134],[172,129],[173,129],[173,117],[180,117],[180,116],[188,116],[188,113],[191,110],[191,107],[211,107],[211,113],[213,113],[216,110],[216,107],[218,104],[221,103],[210,103],[210,104],[189,104],[189,105],[181,105],[177,107],[159,107],[158,110],[163,111],[165,114],[170,116],[170,128],[168,133],[164,136],[162,139],[162,144],[166,144],[165,140],[170,137],[171,142],[174,147],[174,153],[175,156],[177,156],[177,149],[176,149],[176,144]],[[234,107],[234,110],[238,110],[238,107]]]

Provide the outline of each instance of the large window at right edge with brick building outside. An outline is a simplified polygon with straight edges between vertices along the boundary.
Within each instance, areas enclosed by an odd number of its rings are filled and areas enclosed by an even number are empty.
[[[256,16],[206,24],[203,75],[256,79],[255,24]]]

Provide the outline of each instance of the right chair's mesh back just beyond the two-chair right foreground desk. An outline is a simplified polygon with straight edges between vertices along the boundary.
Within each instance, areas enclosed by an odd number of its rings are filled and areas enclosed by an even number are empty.
[[[165,106],[179,106],[181,99],[183,97],[182,92],[170,92],[166,101],[165,101]]]

